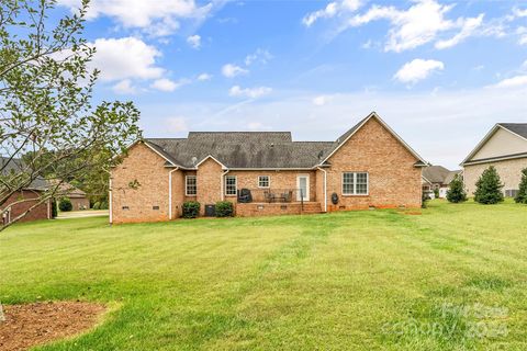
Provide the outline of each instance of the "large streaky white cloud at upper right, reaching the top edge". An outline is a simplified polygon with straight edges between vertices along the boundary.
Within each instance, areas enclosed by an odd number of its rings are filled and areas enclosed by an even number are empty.
[[[446,14],[452,8],[453,4],[440,4],[436,0],[417,0],[407,10],[372,5],[366,13],[352,16],[348,25],[361,26],[378,20],[390,21],[391,29],[384,50],[396,53],[436,41],[440,33],[460,29],[460,32],[450,39],[438,42],[437,46],[445,48],[474,35],[483,20],[482,14],[478,18],[458,18],[456,21],[446,19]]]

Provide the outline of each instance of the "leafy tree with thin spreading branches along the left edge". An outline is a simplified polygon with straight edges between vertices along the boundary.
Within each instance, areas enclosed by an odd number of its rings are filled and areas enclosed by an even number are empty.
[[[65,181],[108,171],[119,162],[108,156],[122,155],[141,138],[139,112],[132,102],[91,104],[99,71],[89,70],[96,48],[82,38],[88,0],[56,22],[49,16],[55,2],[0,4],[1,211],[35,180],[45,178],[51,184],[0,230],[49,199],[64,196]],[[7,172],[13,162],[16,171]]]

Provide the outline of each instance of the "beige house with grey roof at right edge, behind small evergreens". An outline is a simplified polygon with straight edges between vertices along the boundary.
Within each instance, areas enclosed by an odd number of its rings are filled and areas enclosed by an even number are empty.
[[[461,162],[469,195],[475,191],[481,173],[494,166],[504,183],[506,196],[515,196],[527,167],[527,123],[498,123]]]

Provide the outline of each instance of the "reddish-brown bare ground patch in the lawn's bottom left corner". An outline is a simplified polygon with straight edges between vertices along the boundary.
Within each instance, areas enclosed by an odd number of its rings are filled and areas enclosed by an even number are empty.
[[[26,350],[76,336],[93,327],[105,310],[103,305],[83,302],[3,305],[0,350]]]

